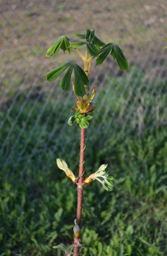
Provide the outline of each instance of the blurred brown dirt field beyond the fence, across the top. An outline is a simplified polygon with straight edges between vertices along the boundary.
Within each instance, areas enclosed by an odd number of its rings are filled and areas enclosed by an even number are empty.
[[[163,47],[167,35],[166,0],[161,1],[0,1],[0,90],[1,104],[18,90],[33,95],[44,86],[44,75],[75,54],[45,58],[47,49],[61,35],[93,29],[105,43],[117,43],[131,67],[141,67],[148,77],[165,76],[167,54]],[[82,62],[79,61],[82,65]],[[122,75],[108,57],[103,69],[93,70],[99,81],[104,71]],[[49,85],[50,86],[50,85]],[[45,86],[45,91],[50,87]]]

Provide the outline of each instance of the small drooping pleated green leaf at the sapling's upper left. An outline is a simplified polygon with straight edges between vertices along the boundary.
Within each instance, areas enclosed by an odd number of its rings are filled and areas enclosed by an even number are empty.
[[[52,45],[46,53],[46,57],[50,57],[52,55],[55,55],[58,53],[58,51],[60,50],[60,48],[65,52],[65,50],[67,50],[70,53],[70,43],[69,43],[69,39],[66,36],[61,36],[59,37],[56,42],[54,43],[54,45]]]

